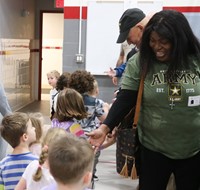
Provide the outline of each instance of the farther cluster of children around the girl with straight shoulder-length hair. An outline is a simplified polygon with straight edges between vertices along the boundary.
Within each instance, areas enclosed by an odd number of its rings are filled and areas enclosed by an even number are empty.
[[[104,121],[110,105],[97,98],[99,94],[98,83],[90,72],[77,70],[67,76],[62,74],[59,78],[56,78],[56,73],[57,71],[51,71],[47,74],[48,78],[57,79],[57,85],[51,85],[57,90],[56,101],[52,99],[53,104],[50,103],[50,106],[53,105],[52,109],[56,110],[54,115],[51,115],[52,127],[61,127],[71,133],[76,132],[77,136],[87,138],[85,134],[97,129]],[[102,147],[107,147],[113,142],[113,138],[108,137]],[[96,165],[99,156],[100,150],[95,153],[93,181],[98,180]]]

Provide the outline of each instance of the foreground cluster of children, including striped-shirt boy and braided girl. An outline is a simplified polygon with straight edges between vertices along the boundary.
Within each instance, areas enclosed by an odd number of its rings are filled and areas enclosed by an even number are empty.
[[[30,151],[30,146],[39,140],[38,126],[42,127],[41,121],[34,114],[14,112],[3,118],[0,132],[13,151],[0,162],[0,189],[83,190],[88,187],[94,160],[89,142],[66,133],[63,128],[50,128],[42,140],[38,158]]]

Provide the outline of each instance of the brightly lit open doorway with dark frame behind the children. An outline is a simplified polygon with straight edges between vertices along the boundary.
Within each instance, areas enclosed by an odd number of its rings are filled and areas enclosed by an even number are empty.
[[[39,100],[50,99],[47,73],[51,70],[62,73],[63,32],[63,12],[41,12]]]

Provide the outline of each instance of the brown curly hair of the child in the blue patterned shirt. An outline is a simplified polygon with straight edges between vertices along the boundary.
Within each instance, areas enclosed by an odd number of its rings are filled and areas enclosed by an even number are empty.
[[[69,87],[75,89],[80,94],[90,92],[94,89],[94,76],[83,70],[74,71],[69,80]]]

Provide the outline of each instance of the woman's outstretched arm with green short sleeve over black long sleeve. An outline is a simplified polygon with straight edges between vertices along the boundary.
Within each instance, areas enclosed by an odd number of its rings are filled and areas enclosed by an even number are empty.
[[[139,54],[135,54],[129,59],[122,80],[122,90],[117,95],[117,99],[104,123],[97,129],[87,134],[92,145],[99,147],[105,140],[106,135],[119,124],[124,116],[136,104],[137,91],[140,84]]]

